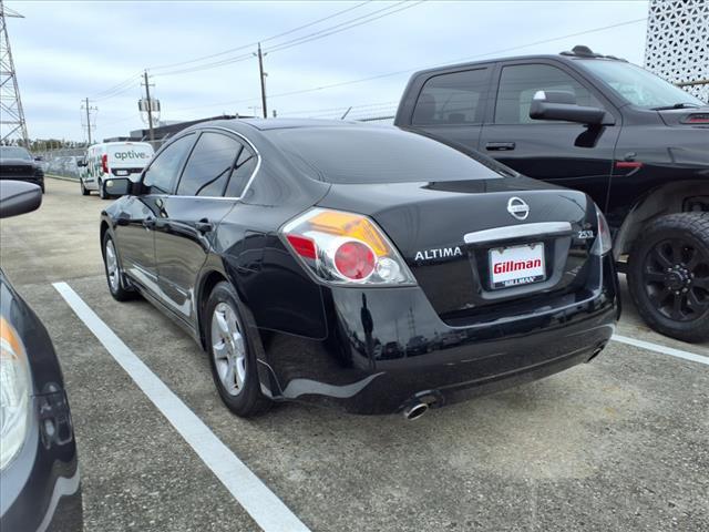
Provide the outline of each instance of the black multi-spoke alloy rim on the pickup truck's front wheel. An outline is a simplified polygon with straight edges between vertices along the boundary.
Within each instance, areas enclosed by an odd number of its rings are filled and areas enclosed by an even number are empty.
[[[647,296],[662,316],[692,321],[709,311],[709,256],[693,243],[657,243],[645,257],[643,277]]]

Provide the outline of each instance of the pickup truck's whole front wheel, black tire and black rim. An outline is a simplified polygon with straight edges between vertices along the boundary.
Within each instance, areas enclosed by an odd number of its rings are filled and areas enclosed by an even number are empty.
[[[644,227],[628,259],[628,287],[658,332],[709,340],[709,213],[670,214]]]

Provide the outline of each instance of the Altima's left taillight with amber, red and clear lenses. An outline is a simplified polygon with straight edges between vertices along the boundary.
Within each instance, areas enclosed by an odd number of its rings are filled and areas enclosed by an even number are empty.
[[[409,267],[367,216],[311,208],[281,234],[290,250],[320,280],[338,285],[415,285]]]

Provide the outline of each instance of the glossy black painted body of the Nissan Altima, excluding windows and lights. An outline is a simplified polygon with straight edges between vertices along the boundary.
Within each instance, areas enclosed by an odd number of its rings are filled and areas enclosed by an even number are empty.
[[[596,211],[586,195],[504,173],[452,183],[330,185],[302,175],[268,134],[269,127],[308,125],[314,124],[275,120],[192,127],[188,131],[218,127],[253,143],[260,166],[243,197],[133,195],[102,214],[101,236],[109,231],[115,238],[131,283],[202,346],[203,301],[223,278],[235,286],[250,337],[260,339],[255,349],[264,393],[337,403],[356,412],[392,412],[417,395],[433,393],[442,405],[538,378],[589,360],[607,342],[619,308],[617,279],[608,256],[589,257],[592,242],[565,235],[551,243],[552,254],[573,246],[572,257],[595,263],[587,272],[580,266],[574,270],[574,258],[568,267],[562,264],[559,283],[544,286],[525,308],[520,295],[528,287],[479,290],[458,306],[432,304],[427,296],[435,290],[463,291],[456,279],[463,272],[473,276],[474,256],[465,248],[450,262],[455,270],[451,278],[427,277],[431,265],[414,259],[415,250],[429,245],[465,246],[462,238],[471,229],[521,225],[505,211],[512,193],[533,205],[527,222],[558,219],[562,214],[573,221],[574,231],[596,231]],[[158,157],[160,153],[154,160]],[[378,191],[384,186],[390,192],[386,196]],[[337,287],[314,282],[278,234],[287,221],[314,205],[371,216],[394,242],[419,286]],[[442,208],[446,216],[436,217]],[[148,217],[154,218],[154,229],[143,227]],[[205,217],[213,227],[203,234],[195,224]],[[420,223],[411,224],[412,219]],[[179,221],[179,227],[172,221]],[[169,228],[161,228],[163,223]],[[133,254],[140,249],[148,264],[136,266],[126,248]],[[176,249],[184,255],[172,253]],[[161,273],[174,278],[161,279]],[[189,278],[192,283],[182,286]],[[475,311],[469,311],[471,303]]]

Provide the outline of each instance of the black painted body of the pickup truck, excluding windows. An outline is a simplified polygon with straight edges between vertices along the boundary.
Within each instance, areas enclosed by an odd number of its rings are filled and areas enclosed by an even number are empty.
[[[417,72],[404,90],[394,124],[487,153],[528,177],[586,192],[605,212],[614,235],[623,235],[620,242],[616,238],[615,253],[627,253],[631,238],[621,233],[624,223],[664,186],[680,191],[678,195],[682,197],[703,197],[705,203],[700,203],[709,209],[709,125],[684,120],[709,112],[709,106],[662,111],[634,106],[586,69],[584,61],[590,59],[564,54],[518,57]],[[521,64],[553,65],[571,75],[603,105],[604,124],[496,124],[494,110],[502,69]],[[470,69],[487,69],[489,73],[479,123],[412,124],[425,81]],[[688,209],[687,205],[667,208]]]

